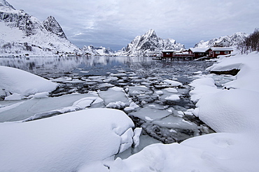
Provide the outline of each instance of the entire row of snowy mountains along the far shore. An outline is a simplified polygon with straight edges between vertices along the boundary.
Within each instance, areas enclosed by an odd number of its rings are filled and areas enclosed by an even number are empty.
[[[235,33],[232,36],[201,40],[194,47],[208,48],[223,39],[228,40],[232,47],[237,47],[238,42],[246,36],[246,33]],[[118,52],[92,45],[80,49],[66,38],[54,17],[50,16],[41,22],[24,10],[15,10],[6,0],[0,0],[0,56],[150,56],[169,49],[181,50],[185,47],[174,39],[159,38],[153,29],[143,36],[137,36]]]

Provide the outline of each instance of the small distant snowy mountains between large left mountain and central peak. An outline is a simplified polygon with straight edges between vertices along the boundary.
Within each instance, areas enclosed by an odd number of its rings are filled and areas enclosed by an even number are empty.
[[[94,55],[94,56],[113,56],[113,50],[106,47],[94,47],[92,45],[84,46],[82,49],[83,54]]]

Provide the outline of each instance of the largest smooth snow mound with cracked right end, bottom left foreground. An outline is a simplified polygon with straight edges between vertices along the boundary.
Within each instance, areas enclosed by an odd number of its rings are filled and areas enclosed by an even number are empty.
[[[86,109],[27,123],[0,123],[0,171],[77,171],[132,143],[123,111]]]

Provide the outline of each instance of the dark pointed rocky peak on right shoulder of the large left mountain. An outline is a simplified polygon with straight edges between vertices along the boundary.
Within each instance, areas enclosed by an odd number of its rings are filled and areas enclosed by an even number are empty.
[[[47,31],[55,33],[60,38],[66,38],[66,35],[62,27],[59,25],[55,17],[49,16],[47,19],[43,21],[43,26]]]

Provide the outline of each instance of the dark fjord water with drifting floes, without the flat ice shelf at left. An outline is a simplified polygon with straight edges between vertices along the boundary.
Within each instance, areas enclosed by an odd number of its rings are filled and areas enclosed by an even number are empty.
[[[50,96],[57,97],[71,93],[97,91],[106,100],[125,102],[125,96],[113,94],[112,87],[123,88],[130,102],[139,108],[125,111],[136,127],[142,127],[139,148],[126,151],[120,157],[127,157],[150,143],[181,142],[192,136],[210,132],[190,109],[190,81],[212,63],[206,61],[156,61],[151,57],[118,56],[68,56],[0,58],[0,65],[19,68],[45,77],[59,84]],[[178,81],[181,86],[166,84],[165,80]],[[168,89],[169,88],[169,89]],[[168,97],[176,95],[179,100]],[[122,103],[113,108],[124,109]],[[107,104],[105,104],[107,105]],[[110,105],[110,107],[112,107]]]

